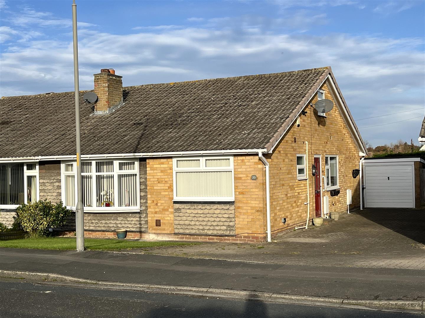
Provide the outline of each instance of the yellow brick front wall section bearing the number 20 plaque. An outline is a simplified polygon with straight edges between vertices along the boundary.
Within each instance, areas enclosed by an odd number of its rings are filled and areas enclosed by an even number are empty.
[[[235,232],[266,232],[266,173],[258,156],[234,156]],[[256,175],[257,180],[251,180]]]

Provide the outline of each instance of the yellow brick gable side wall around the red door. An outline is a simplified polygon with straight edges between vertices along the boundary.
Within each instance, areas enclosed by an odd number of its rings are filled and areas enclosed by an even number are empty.
[[[352,190],[353,204],[350,208],[360,205],[359,177],[353,179],[351,175],[353,169],[359,168],[359,148],[329,87],[325,83],[321,88],[325,91],[325,98],[334,100],[335,104],[327,118],[318,117],[317,112],[315,114],[314,109],[308,106],[306,116],[300,117],[300,127],[294,123],[272,155],[267,157],[270,163],[272,234],[306,223],[307,206],[304,202],[307,201],[307,181],[297,180],[296,169],[296,154],[306,152],[306,142],[309,144],[306,172],[310,187],[310,218],[315,211],[314,177],[311,174],[314,155],[321,155],[321,176],[325,175],[325,155],[339,155],[340,195],[331,197],[329,191],[323,191],[323,196],[329,196],[329,211],[346,211],[347,189]],[[316,100],[317,96],[313,103]],[[286,218],[286,224],[282,223],[282,218]]]

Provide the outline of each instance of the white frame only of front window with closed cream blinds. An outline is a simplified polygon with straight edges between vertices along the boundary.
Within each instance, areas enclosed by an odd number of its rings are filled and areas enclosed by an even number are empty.
[[[206,159],[229,159],[229,167],[206,167]],[[178,160],[199,160],[199,167],[194,168],[178,168]],[[177,172],[196,172],[196,171],[232,171],[232,196],[231,197],[178,197],[176,187],[176,173]],[[232,202],[235,201],[235,176],[233,169],[233,156],[195,156],[195,157],[173,157],[173,201],[207,201],[207,202]]]

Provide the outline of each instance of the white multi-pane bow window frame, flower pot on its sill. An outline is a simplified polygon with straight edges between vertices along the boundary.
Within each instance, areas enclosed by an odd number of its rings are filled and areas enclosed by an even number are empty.
[[[96,172],[96,162],[103,162],[103,161],[112,161],[113,162],[113,172]],[[113,175],[113,202],[118,202],[118,175],[120,174],[129,174],[129,173],[136,173],[137,182],[136,182],[136,195],[137,195],[137,206],[85,206],[84,211],[85,212],[101,212],[101,213],[117,213],[117,212],[138,212],[140,211],[140,170],[139,170],[139,158],[129,158],[129,159],[109,159],[109,158],[103,158],[103,159],[87,159],[82,160],[82,162],[91,162],[91,173],[82,173],[83,175],[91,175],[92,176],[92,183],[93,183],[93,190],[92,193],[94,195],[94,198],[92,198],[92,202],[96,201],[96,176],[102,175],[102,174],[108,174]],[[119,163],[120,162],[135,162],[135,169],[134,170],[119,170]],[[66,164],[73,164],[73,172],[65,171],[65,165]],[[62,202],[65,204],[65,175],[74,175],[74,187],[75,187],[75,203],[77,204],[77,162],[75,161],[62,161],[61,162],[61,196],[62,196]],[[67,206],[68,209],[75,210],[75,206]]]

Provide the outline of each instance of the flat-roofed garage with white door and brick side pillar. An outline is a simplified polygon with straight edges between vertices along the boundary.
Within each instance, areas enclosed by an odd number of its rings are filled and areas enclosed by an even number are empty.
[[[368,208],[414,208],[420,205],[421,158],[366,158],[363,188]],[[422,181],[422,187],[425,185]]]

